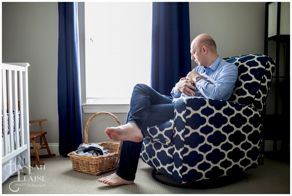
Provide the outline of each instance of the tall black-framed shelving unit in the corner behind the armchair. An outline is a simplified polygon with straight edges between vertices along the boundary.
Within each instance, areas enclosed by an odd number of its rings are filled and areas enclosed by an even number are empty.
[[[268,37],[270,3],[265,5],[264,47],[265,55],[272,57],[276,66],[263,112],[263,137],[273,140],[272,156],[279,157],[288,153],[290,148],[290,35],[280,34],[281,2],[277,2],[277,33]],[[280,152],[277,151],[277,141],[282,144]]]

